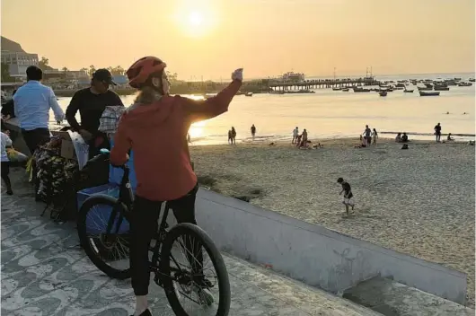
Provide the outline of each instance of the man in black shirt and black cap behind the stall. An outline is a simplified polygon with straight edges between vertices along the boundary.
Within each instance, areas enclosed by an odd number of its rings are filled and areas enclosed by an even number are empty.
[[[96,70],[91,87],[75,92],[66,109],[69,125],[89,144],[90,158],[97,154],[100,147],[109,146],[107,138],[98,131],[102,112],[107,106],[124,106],[119,95],[109,90],[110,84],[116,85],[110,72],[107,69]],[[78,110],[81,124],[75,118]]]

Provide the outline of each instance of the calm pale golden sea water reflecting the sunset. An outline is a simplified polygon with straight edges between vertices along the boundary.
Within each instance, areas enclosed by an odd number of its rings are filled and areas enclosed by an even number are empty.
[[[474,74],[388,75],[379,80],[437,79],[461,77],[463,81]],[[313,79],[313,78],[309,78]],[[313,94],[254,94],[239,95],[228,112],[190,127],[196,145],[225,144],[231,127],[237,131],[237,141],[251,141],[251,124],[257,127],[257,141],[288,139],[295,127],[307,130],[310,138],[356,137],[366,124],[382,132],[433,133],[440,122],[443,133],[475,134],[475,87],[450,87],[437,97],[420,97],[400,90],[380,97],[377,92],[355,93],[317,89]],[[198,98],[190,96],[192,98]],[[66,110],[71,98],[59,98]],[[134,96],[122,97],[130,105]],[[449,112],[450,114],[446,114]],[[463,114],[466,112],[467,114]],[[79,115],[78,115],[79,117]],[[53,117],[51,116],[51,119]],[[410,139],[431,139],[433,136],[411,136]],[[465,140],[467,137],[455,137]],[[473,137],[470,137],[473,138]]]

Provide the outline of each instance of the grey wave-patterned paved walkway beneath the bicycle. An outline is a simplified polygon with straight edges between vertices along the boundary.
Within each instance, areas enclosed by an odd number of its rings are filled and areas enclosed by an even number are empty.
[[[74,224],[40,217],[43,205],[34,202],[22,171],[13,172],[13,189],[13,197],[2,194],[2,315],[129,315],[134,310],[130,280],[110,279],[95,268],[79,248]],[[380,315],[240,259],[224,258],[232,316]],[[153,282],[149,297],[154,315],[173,315],[163,289]]]

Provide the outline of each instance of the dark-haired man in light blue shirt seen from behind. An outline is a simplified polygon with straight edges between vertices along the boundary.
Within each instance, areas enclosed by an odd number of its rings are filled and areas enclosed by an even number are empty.
[[[65,113],[57,104],[57,96],[50,87],[41,84],[43,71],[37,66],[26,69],[27,83],[13,95],[14,114],[20,122],[22,136],[33,154],[36,148],[49,141],[49,110],[53,110],[57,122]]]

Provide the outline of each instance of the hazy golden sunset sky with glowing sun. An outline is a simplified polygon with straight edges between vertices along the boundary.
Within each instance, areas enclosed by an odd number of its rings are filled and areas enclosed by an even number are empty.
[[[2,0],[2,35],[50,66],[163,58],[181,79],[474,71],[474,0]]]

